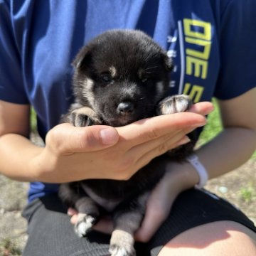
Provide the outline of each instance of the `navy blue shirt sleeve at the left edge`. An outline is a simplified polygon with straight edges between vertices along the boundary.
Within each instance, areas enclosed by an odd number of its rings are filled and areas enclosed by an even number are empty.
[[[28,104],[21,55],[13,28],[10,5],[0,0],[0,100]]]

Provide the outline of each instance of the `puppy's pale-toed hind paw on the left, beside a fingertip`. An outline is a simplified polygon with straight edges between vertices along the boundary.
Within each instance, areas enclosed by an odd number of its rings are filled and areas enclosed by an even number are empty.
[[[78,234],[80,238],[84,237],[95,224],[96,218],[86,213],[78,213],[78,221],[75,224],[75,233]]]

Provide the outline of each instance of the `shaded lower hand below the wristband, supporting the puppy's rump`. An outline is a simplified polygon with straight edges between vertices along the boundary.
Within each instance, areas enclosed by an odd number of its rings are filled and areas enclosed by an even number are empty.
[[[135,240],[148,242],[168,218],[177,196],[198,183],[199,177],[191,164],[170,161],[166,174],[148,198],[142,225],[135,233]]]

